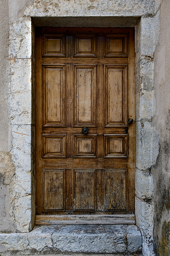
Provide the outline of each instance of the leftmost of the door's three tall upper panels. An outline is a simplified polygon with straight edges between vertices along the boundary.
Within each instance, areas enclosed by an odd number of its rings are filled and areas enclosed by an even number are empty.
[[[43,64],[43,126],[65,127],[66,65]]]

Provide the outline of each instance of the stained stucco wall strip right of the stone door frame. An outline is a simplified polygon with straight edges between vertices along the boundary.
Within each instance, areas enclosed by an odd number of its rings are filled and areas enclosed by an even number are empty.
[[[155,1],[156,114],[159,155],[154,174],[154,247],[156,255],[170,255],[170,1]]]

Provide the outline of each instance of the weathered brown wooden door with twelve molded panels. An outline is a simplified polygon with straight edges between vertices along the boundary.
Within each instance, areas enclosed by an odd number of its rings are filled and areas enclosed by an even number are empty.
[[[134,213],[134,54],[133,28],[37,29],[37,215]]]

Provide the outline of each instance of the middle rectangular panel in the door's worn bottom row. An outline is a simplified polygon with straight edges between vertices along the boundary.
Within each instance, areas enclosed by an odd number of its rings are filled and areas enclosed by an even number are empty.
[[[96,170],[74,169],[74,211],[95,211]]]

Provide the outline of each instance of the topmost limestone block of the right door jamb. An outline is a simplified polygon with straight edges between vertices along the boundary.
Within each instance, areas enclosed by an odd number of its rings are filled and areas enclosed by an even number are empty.
[[[154,18],[142,17],[140,30],[140,53],[143,56],[154,52]]]

